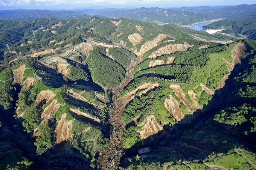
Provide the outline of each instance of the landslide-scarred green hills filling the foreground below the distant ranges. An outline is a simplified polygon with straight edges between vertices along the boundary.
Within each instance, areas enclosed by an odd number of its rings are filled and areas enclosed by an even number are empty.
[[[256,168],[256,41],[127,18],[0,22],[1,169]]]

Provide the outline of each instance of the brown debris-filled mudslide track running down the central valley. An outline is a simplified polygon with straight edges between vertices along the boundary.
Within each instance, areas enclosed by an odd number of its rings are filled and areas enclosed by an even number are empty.
[[[125,153],[126,149],[123,147],[123,133],[125,131],[125,125],[122,121],[123,110],[125,104],[120,97],[120,92],[123,88],[130,83],[134,76],[134,68],[140,61],[140,57],[137,57],[136,62],[131,62],[128,66],[123,82],[113,91],[112,108],[109,113],[109,125],[110,125],[110,141],[108,147],[100,150],[99,157],[96,160],[97,169],[99,170],[116,170],[120,164],[120,158]]]

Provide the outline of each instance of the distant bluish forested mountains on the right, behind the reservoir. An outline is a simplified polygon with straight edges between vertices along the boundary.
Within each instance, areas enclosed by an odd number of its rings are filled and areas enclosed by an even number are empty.
[[[139,8],[130,10],[98,10],[84,11],[89,15],[100,15],[109,18],[130,18],[142,22],[155,23],[174,23],[180,25],[190,25],[192,23],[216,18],[237,18],[250,17],[256,15],[256,5],[237,5],[237,6],[199,6],[182,8]]]

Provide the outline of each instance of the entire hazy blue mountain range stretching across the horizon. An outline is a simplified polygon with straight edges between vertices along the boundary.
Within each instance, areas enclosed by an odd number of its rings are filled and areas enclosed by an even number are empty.
[[[174,23],[190,25],[192,23],[216,18],[251,17],[256,15],[256,5],[238,6],[198,6],[181,8],[137,8],[137,9],[78,9],[74,11],[56,10],[3,10],[0,11],[0,20],[34,20],[39,17],[56,19],[88,19],[91,16],[100,18],[130,18],[133,20],[154,23]]]

